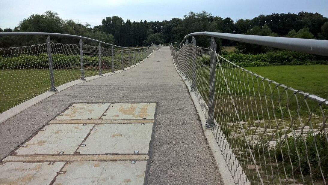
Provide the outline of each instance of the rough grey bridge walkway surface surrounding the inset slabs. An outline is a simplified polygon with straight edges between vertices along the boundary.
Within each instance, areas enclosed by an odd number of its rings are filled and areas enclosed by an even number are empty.
[[[223,184],[169,47],[128,71],[74,85],[1,123],[0,158],[70,104],[140,102],[158,103],[146,184]]]

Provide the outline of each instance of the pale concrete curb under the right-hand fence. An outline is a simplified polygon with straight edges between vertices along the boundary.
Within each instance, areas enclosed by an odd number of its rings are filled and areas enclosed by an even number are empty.
[[[172,53],[171,53],[172,55]],[[184,83],[186,84],[188,90],[189,90],[189,94],[194,102],[194,105],[195,105],[195,108],[196,108],[196,111],[199,115],[199,118],[200,118],[200,122],[202,124],[202,128],[203,128],[203,131],[204,131],[204,134],[205,134],[205,137],[207,139],[207,142],[209,144],[209,147],[214,155],[214,158],[215,158],[215,161],[216,161],[216,165],[219,169],[219,172],[221,174],[221,177],[222,177],[222,180],[224,182],[225,185],[236,185],[235,181],[234,181],[234,178],[232,177],[231,175],[231,172],[227,166],[227,163],[222,155],[222,152],[215,140],[215,137],[213,135],[213,132],[211,129],[206,129],[205,128],[205,124],[206,124],[206,118],[205,118],[205,115],[204,115],[204,112],[197,100],[197,97],[195,95],[195,93],[191,93],[191,84],[189,83],[188,80],[185,80],[185,77],[183,77],[184,75],[182,75],[181,73],[179,73],[178,71],[178,68],[175,64],[175,61],[174,61],[174,58],[172,56],[172,60],[173,60],[173,63],[174,63],[174,66],[175,66],[175,70],[176,72],[179,74],[179,76],[181,77],[181,79],[184,81]]]

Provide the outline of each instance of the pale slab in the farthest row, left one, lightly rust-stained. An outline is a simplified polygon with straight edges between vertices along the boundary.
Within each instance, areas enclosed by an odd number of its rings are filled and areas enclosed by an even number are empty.
[[[73,104],[57,120],[98,120],[111,104]]]

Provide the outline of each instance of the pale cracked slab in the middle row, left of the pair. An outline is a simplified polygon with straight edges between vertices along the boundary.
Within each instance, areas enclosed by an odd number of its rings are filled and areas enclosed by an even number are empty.
[[[16,150],[19,155],[26,154],[73,154],[93,127],[92,124],[52,124],[40,130],[26,146]]]

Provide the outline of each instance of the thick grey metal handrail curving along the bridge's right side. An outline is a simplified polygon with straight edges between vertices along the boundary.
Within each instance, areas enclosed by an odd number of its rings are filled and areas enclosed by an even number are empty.
[[[195,32],[186,35],[180,45],[186,40],[186,38],[195,35],[205,35],[216,38],[223,38],[228,40],[234,40],[238,42],[245,42],[249,44],[257,44],[262,46],[268,46],[273,48],[287,49],[293,51],[299,51],[304,53],[311,53],[316,55],[328,56],[328,40],[316,40],[305,38],[287,38],[277,36],[259,36],[259,35],[241,35],[241,34],[226,34],[217,32]]]

